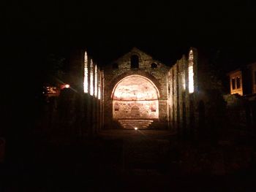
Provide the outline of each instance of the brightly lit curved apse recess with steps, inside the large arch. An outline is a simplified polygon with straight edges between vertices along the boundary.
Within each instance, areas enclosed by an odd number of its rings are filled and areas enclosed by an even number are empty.
[[[113,88],[113,119],[124,128],[147,128],[159,118],[159,91],[154,82],[130,75]]]

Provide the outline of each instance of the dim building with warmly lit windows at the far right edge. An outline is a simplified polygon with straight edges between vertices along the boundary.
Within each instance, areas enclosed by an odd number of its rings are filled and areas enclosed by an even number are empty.
[[[227,76],[230,79],[230,94],[225,96],[225,100],[233,118],[231,122],[243,124],[252,131],[256,126],[256,63],[241,66],[227,73]]]

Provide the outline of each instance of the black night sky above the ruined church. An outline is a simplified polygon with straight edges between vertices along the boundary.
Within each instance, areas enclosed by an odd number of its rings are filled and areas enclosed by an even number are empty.
[[[220,64],[233,69],[256,61],[255,9],[251,0],[8,1],[2,37],[12,64],[5,66],[7,73],[18,66],[18,77],[30,81],[39,79],[49,53],[66,57],[87,47],[107,64],[135,46],[171,65],[193,46],[219,51]]]

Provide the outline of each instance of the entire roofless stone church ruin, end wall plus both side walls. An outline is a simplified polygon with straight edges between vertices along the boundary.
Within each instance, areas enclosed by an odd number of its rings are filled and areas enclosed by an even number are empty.
[[[136,47],[103,67],[86,50],[72,53],[65,89],[73,106],[69,132],[75,125],[81,136],[116,128],[196,133],[212,113],[206,63],[193,47],[173,66]]]

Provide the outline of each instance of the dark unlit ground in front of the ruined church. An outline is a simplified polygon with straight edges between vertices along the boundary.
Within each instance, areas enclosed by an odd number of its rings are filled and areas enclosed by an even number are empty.
[[[252,146],[178,144],[165,133],[108,134],[12,142],[0,167],[0,191],[256,191]]]

